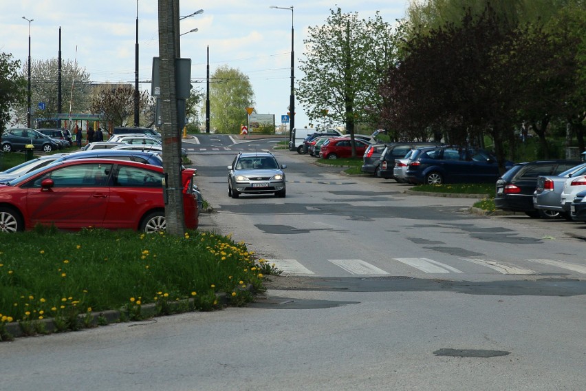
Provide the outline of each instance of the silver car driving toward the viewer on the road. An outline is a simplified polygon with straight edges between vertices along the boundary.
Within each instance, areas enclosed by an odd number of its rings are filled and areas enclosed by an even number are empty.
[[[285,197],[285,169],[270,152],[239,153],[228,166],[228,195],[268,194]]]

